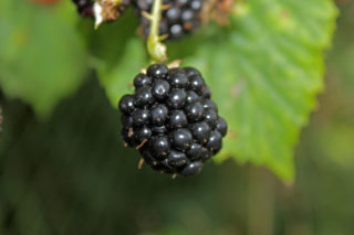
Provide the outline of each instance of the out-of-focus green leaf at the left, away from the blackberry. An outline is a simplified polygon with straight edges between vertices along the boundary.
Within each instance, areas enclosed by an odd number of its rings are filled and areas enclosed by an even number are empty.
[[[86,68],[70,1],[45,7],[0,1],[0,85],[6,95],[31,104],[45,117],[73,93]]]

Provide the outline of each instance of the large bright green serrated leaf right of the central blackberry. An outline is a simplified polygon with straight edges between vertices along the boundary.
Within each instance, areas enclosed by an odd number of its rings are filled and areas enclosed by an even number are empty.
[[[202,71],[229,124],[216,159],[267,165],[291,182],[293,148],[323,89],[323,51],[337,11],[331,0],[249,0],[236,10],[230,28],[210,26],[171,52]],[[194,50],[180,53],[187,44]]]

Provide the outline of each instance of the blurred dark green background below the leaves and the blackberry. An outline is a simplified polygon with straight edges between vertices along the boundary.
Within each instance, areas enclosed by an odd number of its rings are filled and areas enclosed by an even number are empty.
[[[177,180],[138,171],[92,73],[46,121],[1,98],[0,234],[352,235],[354,4],[339,7],[326,89],[296,147],[293,185],[233,160]]]

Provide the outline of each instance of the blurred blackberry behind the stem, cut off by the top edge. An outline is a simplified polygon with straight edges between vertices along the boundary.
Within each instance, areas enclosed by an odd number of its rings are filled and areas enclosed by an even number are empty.
[[[154,0],[132,0],[138,15],[144,36],[149,34],[150,21],[142,14],[150,12]],[[167,39],[180,39],[196,31],[200,24],[200,12],[204,0],[164,0],[166,9],[163,10],[159,22],[159,34]]]

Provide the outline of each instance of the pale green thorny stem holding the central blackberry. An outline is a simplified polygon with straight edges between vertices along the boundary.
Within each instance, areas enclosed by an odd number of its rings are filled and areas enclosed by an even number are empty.
[[[150,33],[147,38],[147,51],[155,62],[165,62],[167,60],[166,45],[160,42],[159,21],[162,17],[163,0],[154,0],[150,20]]]

